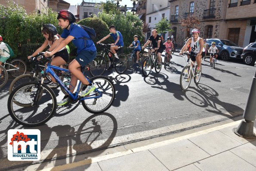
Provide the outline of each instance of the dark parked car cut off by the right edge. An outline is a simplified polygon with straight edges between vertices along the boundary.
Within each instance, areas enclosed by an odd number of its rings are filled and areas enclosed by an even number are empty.
[[[244,64],[254,65],[256,61],[256,42],[250,43],[244,48],[244,51],[241,55],[241,58],[244,60]]]

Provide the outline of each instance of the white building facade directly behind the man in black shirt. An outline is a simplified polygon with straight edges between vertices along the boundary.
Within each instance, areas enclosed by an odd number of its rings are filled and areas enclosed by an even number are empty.
[[[146,3],[146,23],[150,25],[152,29],[155,29],[155,24],[157,24],[162,18],[170,19],[170,3],[167,0],[147,0]],[[152,30],[151,29],[151,30]],[[159,33],[160,34],[160,33]],[[150,37],[151,32],[146,34],[146,39]],[[163,35],[166,40],[169,33]]]

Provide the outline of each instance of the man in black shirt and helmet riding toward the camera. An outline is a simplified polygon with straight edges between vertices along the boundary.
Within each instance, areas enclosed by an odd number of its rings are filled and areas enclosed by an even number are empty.
[[[145,48],[149,43],[152,42],[153,49],[151,49],[151,52],[156,52],[157,51],[157,57],[159,64],[162,64],[162,58],[161,54],[163,53],[163,50],[165,49],[165,46],[163,45],[162,38],[157,34],[157,30],[152,30],[152,35],[149,37],[147,43],[145,43],[144,46],[142,46],[142,49]],[[151,53],[148,52],[148,53]]]

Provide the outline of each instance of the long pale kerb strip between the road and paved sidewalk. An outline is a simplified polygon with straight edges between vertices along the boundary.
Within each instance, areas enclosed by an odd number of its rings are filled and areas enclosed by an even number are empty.
[[[209,129],[206,129],[206,130],[203,130],[203,131],[198,131],[198,132],[195,132],[195,133],[192,133],[192,134],[184,135],[182,137],[177,137],[177,138],[173,138],[173,139],[170,139],[170,140],[164,140],[164,141],[157,142],[157,143],[154,143],[154,144],[149,144],[149,145],[146,145],[146,146],[143,146],[143,147],[133,148],[133,149],[130,149],[130,150],[127,150],[127,151],[124,151],[124,152],[117,152],[117,153],[108,154],[108,155],[105,155],[105,156],[95,157],[95,158],[92,158],[92,159],[85,159],[85,160],[82,160],[82,161],[79,161],[79,162],[69,163],[69,164],[65,164],[65,165],[59,165],[59,166],[55,166],[55,167],[51,167],[51,168],[45,168],[42,171],[63,171],[63,170],[67,170],[67,169],[77,168],[77,167],[80,167],[80,166],[83,166],[83,165],[89,165],[89,164],[92,164],[92,163],[95,163],[95,162],[101,162],[101,161],[108,160],[108,159],[113,159],[113,158],[117,158],[117,157],[121,157],[121,156],[126,156],[126,155],[130,155],[130,154],[133,154],[133,153],[138,153],[138,152],[141,152],[141,151],[145,151],[145,150],[150,150],[152,148],[161,147],[161,146],[171,144],[171,143],[174,143],[174,142],[177,142],[177,141],[180,141],[180,140],[189,139],[191,137],[197,137],[199,135],[204,135],[204,134],[207,134],[207,133],[210,133],[210,132],[213,132],[213,131],[217,131],[217,130],[220,130],[220,129],[223,129],[223,128],[239,125],[240,122],[241,122],[241,120],[238,120],[236,122],[231,122],[231,123],[228,123],[228,124],[225,124],[225,125],[216,126],[214,128],[209,128]]]

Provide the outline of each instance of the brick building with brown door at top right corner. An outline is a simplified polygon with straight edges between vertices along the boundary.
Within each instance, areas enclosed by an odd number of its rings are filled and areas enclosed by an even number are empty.
[[[256,41],[256,0],[228,0],[220,37],[245,47]]]

